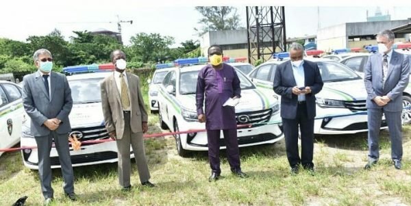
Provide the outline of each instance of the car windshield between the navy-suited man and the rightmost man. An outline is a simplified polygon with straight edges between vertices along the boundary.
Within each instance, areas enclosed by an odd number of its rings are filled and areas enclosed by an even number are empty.
[[[338,62],[316,62],[324,82],[361,79],[353,70]]]

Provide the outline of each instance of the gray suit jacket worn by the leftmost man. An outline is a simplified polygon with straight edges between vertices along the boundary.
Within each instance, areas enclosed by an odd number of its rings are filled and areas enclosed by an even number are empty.
[[[51,101],[49,91],[40,73],[36,72],[23,77],[23,106],[32,119],[30,132],[33,136],[48,136],[50,130],[43,125],[47,119],[58,118],[62,121],[55,131],[59,134],[69,133],[71,125],[69,114],[73,107],[71,89],[65,75],[51,72]]]

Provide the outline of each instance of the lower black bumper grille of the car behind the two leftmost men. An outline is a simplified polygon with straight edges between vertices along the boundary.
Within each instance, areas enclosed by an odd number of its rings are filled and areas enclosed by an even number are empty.
[[[116,152],[101,152],[101,153],[90,153],[84,155],[71,155],[71,164],[84,164],[88,162],[99,162],[108,159],[116,159]],[[60,166],[60,160],[58,157],[50,157],[51,166]]]

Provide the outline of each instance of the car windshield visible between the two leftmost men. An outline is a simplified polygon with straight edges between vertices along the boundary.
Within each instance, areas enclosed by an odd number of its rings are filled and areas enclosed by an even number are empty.
[[[76,79],[69,81],[74,104],[101,102],[100,81],[103,78]]]

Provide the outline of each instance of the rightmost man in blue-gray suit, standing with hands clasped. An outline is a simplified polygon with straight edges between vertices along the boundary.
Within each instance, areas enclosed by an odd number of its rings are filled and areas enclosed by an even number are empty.
[[[408,58],[391,49],[394,33],[384,30],[377,34],[378,53],[371,55],[365,66],[364,83],[367,92],[369,162],[364,167],[374,166],[379,158],[378,136],[382,114],[388,123],[391,138],[391,158],[395,168],[401,169],[402,134],[401,111],[403,90],[408,85],[410,66]]]

